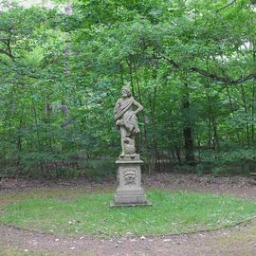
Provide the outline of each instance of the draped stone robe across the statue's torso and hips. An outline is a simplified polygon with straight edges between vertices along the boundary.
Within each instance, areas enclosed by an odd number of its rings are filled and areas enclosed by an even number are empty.
[[[122,101],[121,104],[115,107],[114,116],[118,126],[124,126],[127,131],[127,136],[139,133],[137,125],[137,116],[132,110],[134,98],[130,97],[127,101]]]

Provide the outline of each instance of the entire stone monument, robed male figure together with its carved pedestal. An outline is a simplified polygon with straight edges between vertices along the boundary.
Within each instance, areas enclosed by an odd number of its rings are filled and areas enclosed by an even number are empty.
[[[134,110],[136,108],[136,110]],[[119,187],[115,193],[111,207],[151,205],[141,188],[140,165],[143,161],[136,154],[135,137],[139,133],[137,113],[143,110],[133,97],[127,86],[121,88],[121,98],[114,108],[116,125],[121,135],[121,154],[118,165]]]

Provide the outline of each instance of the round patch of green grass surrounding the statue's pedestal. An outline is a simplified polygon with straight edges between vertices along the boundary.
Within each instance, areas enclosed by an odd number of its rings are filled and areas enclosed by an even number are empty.
[[[0,221],[54,233],[159,235],[230,227],[256,215],[256,202],[207,193],[147,192],[152,207],[109,208],[113,192],[34,192],[2,206]],[[27,195],[29,196],[29,195]]]

